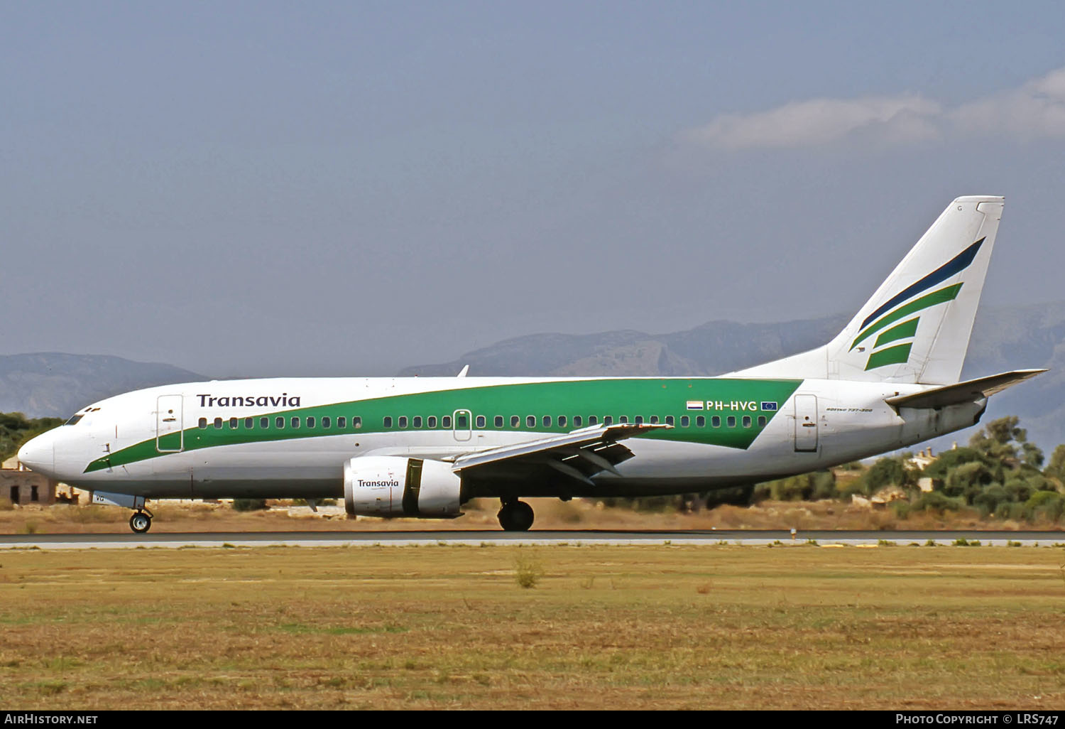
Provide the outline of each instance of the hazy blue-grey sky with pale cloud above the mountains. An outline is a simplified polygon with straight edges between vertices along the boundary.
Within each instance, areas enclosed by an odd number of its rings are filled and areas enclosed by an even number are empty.
[[[1065,298],[1065,4],[867,5],[0,0],[0,347],[391,374],[852,312],[965,194],[984,304]]]

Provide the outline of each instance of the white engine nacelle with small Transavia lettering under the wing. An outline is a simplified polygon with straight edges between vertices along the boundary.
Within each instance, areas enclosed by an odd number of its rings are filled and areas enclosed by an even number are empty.
[[[344,464],[344,508],[351,516],[454,518],[462,480],[439,460],[364,456]]]

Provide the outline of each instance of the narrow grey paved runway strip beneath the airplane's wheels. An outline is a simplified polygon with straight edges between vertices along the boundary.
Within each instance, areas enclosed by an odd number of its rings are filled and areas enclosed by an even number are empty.
[[[819,546],[889,547],[954,545],[964,539],[981,546],[1065,547],[1065,531],[798,531],[700,530],[662,531],[381,531],[381,532],[187,532],[157,534],[14,534],[0,535],[0,549],[144,549],[181,547],[410,547],[410,546]]]

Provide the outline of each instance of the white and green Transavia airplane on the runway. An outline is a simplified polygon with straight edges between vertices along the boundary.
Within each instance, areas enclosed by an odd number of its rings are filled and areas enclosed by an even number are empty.
[[[343,499],[347,514],[454,518],[497,498],[641,497],[750,485],[980,421],[1046,370],[960,382],[1004,198],[953,200],[823,346],[715,377],[265,378],[96,402],[18,452],[133,509],[149,499]]]

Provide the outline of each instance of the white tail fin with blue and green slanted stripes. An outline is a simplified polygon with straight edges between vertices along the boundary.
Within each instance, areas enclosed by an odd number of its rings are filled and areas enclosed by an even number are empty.
[[[734,374],[958,382],[1002,207],[958,197],[829,344]]]

